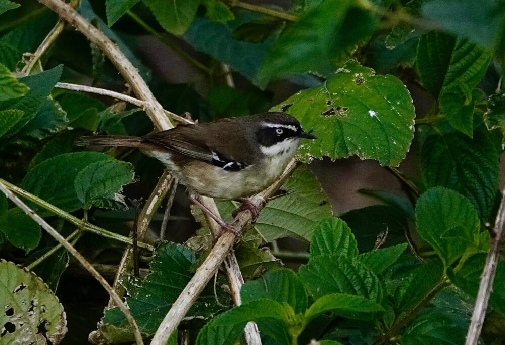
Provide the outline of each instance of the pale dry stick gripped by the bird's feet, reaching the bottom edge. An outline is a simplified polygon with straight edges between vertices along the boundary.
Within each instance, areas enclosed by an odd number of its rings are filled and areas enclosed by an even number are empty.
[[[259,209],[265,206],[265,200],[273,195],[287,180],[291,173],[296,168],[296,161],[293,159],[287,166],[284,173],[270,187],[261,193],[253,196],[251,202]],[[237,231],[242,232],[245,226],[251,221],[252,214],[249,210],[240,212],[230,225]],[[177,328],[182,321],[191,305],[198,298],[200,292],[207,285],[209,280],[214,275],[214,272],[221,265],[226,256],[233,248],[237,237],[232,232],[225,232],[214,245],[214,248],[209,253],[203,264],[196,270],[196,273],[186,285],[182,293],[170,308],[168,314],[163,319],[160,327],[151,342],[151,345],[165,345],[170,334]]]

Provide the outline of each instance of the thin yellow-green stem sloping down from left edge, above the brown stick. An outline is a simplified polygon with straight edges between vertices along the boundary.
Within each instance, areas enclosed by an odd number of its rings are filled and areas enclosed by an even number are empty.
[[[26,190],[21,189],[18,186],[15,186],[14,184],[5,181],[4,179],[0,178],[0,183],[3,183],[5,186],[7,186],[7,188],[9,188],[9,190],[12,190],[16,194],[19,194],[19,195],[23,196],[24,198],[28,199],[29,201],[31,201],[32,203],[34,203],[34,204],[36,204],[36,205],[38,205],[48,211],[51,211],[55,215],[65,219],[66,221],[74,224],[75,226],[77,226],[83,230],[87,230],[89,232],[98,234],[100,236],[112,238],[112,239],[115,239],[115,240],[123,242],[123,243],[127,243],[127,244],[132,243],[132,240],[130,237],[126,237],[126,236],[117,234],[115,232],[112,232],[112,231],[109,231],[106,229],[102,229],[96,225],[90,224],[88,222],[85,222],[85,221],[77,218],[77,217],[74,217],[70,213],[63,211],[52,204],[49,204],[48,202],[40,199],[38,196],[35,196],[35,195],[27,192]],[[138,247],[143,248],[143,249],[147,249],[151,252],[154,250],[154,247],[152,245],[147,244],[147,243],[143,243],[143,242],[138,242]]]

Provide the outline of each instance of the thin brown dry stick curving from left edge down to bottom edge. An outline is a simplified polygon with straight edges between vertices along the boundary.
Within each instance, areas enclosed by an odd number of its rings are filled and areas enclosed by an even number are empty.
[[[45,220],[43,220],[38,214],[33,212],[28,206],[26,206],[25,203],[21,201],[14,193],[12,193],[2,182],[0,182],[0,191],[2,191],[5,196],[9,200],[11,200],[16,206],[18,206],[21,210],[23,210],[29,217],[31,217],[38,225],[40,225],[45,231],[47,231],[51,236],[53,236],[58,242],[60,242],[63,247],[69,251],[70,254],[72,254],[78,261],[79,263],[84,266],[91,275],[98,280],[98,282],[105,288],[105,290],[111,295],[111,297],[116,301],[119,309],[125,314],[126,319],[128,320],[128,323],[130,324],[132,330],[133,330],[133,335],[135,337],[135,341],[137,345],[142,345],[142,336],[140,335],[140,330],[138,329],[138,326],[133,319],[133,317],[130,314],[130,311],[128,308],[123,304],[123,301],[119,298],[116,292],[112,289],[111,285],[98,273],[98,271],[79,253],[75,250],[74,247],[72,247],[72,244],[70,244],[65,238],[60,235],[55,229],[51,227],[51,225],[47,224]]]

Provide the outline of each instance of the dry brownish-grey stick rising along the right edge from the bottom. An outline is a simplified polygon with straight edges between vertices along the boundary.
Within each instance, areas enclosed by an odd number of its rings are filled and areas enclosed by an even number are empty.
[[[493,289],[494,276],[496,267],[500,259],[500,252],[503,247],[503,232],[505,231],[505,190],[503,190],[503,198],[501,199],[500,209],[496,222],[494,224],[494,233],[491,237],[489,245],[489,253],[487,253],[486,263],[482,271],[479,292],[475,301],[475,308],[472,315],[472,321],[468,328],[467,341],[465,345],[476,345],[479,341],[479,335],[486,317],[489,297]]]

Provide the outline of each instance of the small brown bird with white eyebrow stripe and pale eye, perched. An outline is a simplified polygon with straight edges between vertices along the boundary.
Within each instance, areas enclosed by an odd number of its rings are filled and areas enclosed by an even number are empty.
[[[136,147],[160,160],[187,187],[191,202],[213,218],[222,231],[229,224],[196,199],[236,200],[259,215],[248,197],[262,191],[284,172],[302,139],[317,139],[284,112],[266,112],[211,122],[180,125],[147,136],[94,135],[76,146]]]

